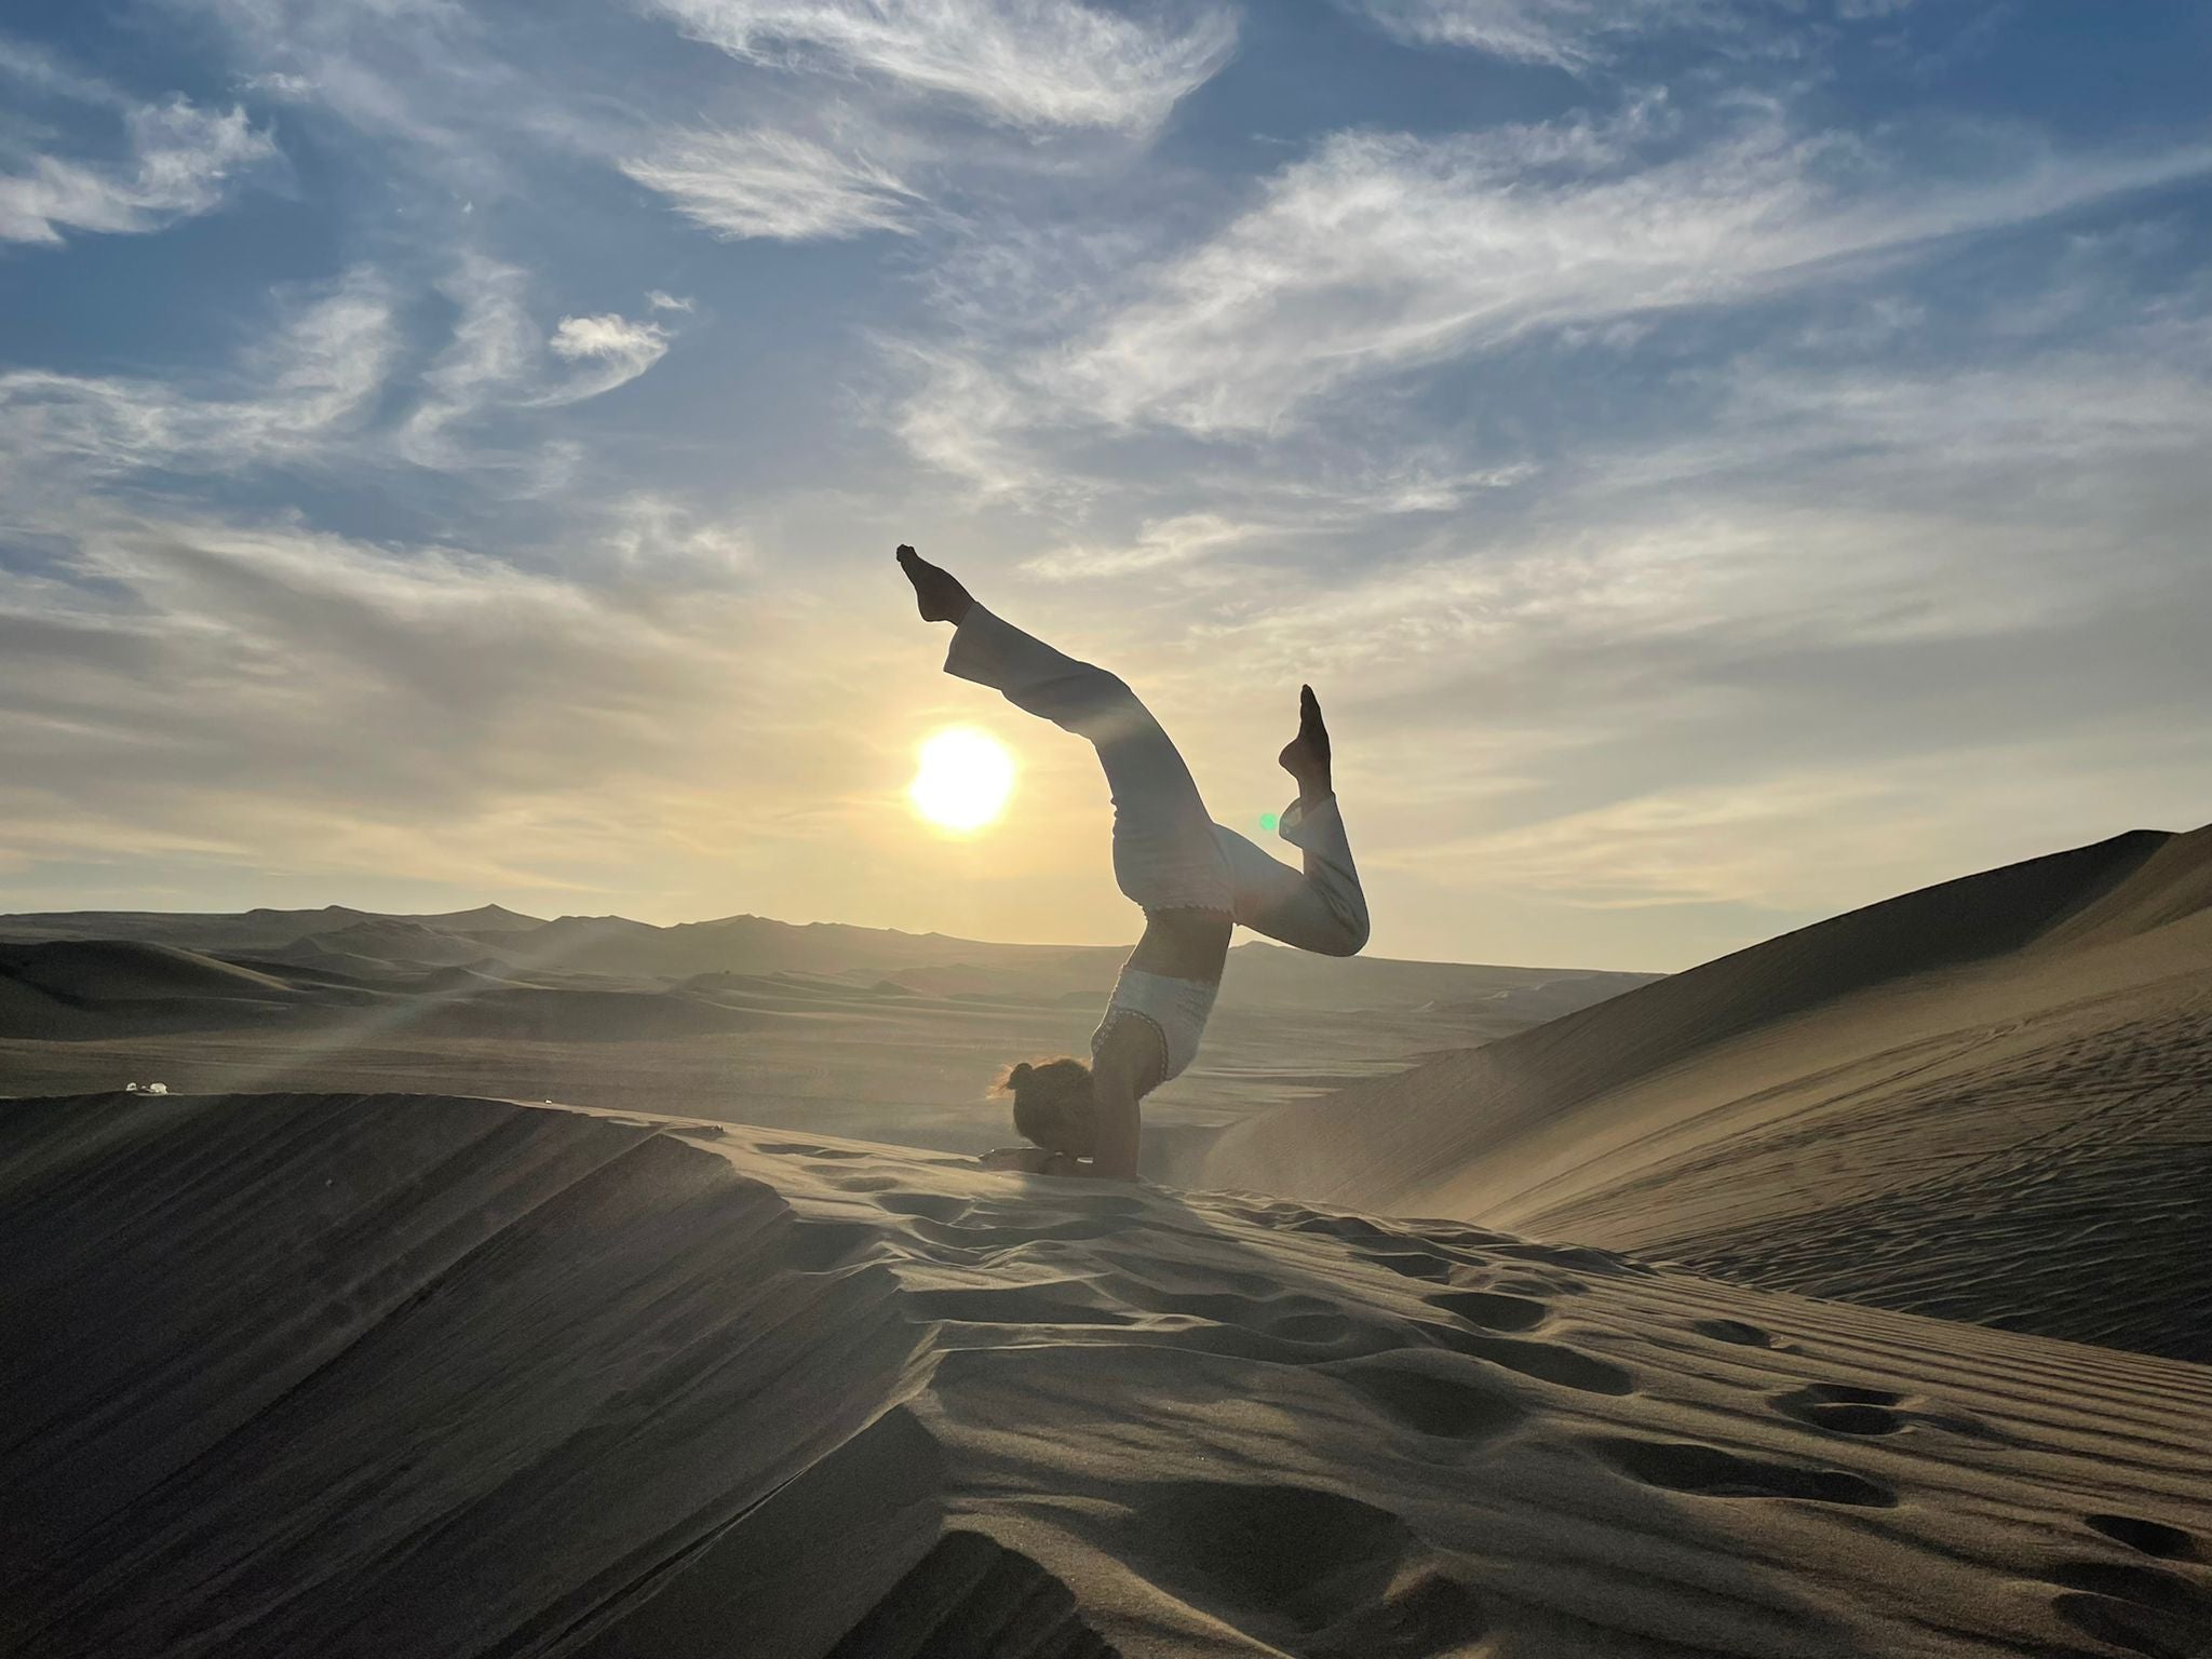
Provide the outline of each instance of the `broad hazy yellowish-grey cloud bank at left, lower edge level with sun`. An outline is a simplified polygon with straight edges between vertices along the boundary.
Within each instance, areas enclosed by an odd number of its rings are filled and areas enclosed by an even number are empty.
[[[290,863],[316,856],[285,847],[303,821],[358,814],[420,858],[445,812],[557,816],[606,779],[679,772],[703,721],[670,710],[730,695],[730,619],[684,571],[611,591],[97,502],[66,540],[60,577],[0,571],[0,776],[40,783],[35,818],[150,821]]]

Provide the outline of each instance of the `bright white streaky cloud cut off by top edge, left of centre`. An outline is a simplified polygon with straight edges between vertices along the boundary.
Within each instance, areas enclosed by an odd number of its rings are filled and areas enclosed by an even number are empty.
[[[1079,0],[650,0],[732,58],[876,75],[1009,126],[1150,128],[1237,42],[1221,4],[1168,22]]]

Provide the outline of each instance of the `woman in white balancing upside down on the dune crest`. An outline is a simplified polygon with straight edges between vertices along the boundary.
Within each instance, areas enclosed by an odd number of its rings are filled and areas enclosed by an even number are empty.
[[[1301,686],[1298,734],[1279,757],[1298,783],[1281,836],[1305,854],[1301,874],[1208,816],[1183,757],[1128,686],[991,615],[911,546],[898,549],[898,564],[922,619],[956,628],[947,675],[991,686],[1097,748],[1113,792],[1115,883],[1144,907],[1144,938],[1091,1035],[1091,1064],[1062,1057],[1009,1068],[1000,1093],[1013,1095],[1013,1126],[1033,1146],[987,1161],[1135,1181],[1137,1102],[1199,1053],[1232,927],[1323,956],[1354,956],[1367,942],[1367,898],[1336,810],[1321,703]]]

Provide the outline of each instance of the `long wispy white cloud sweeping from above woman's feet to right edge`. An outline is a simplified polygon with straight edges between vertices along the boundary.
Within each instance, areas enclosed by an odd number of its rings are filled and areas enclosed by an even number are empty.
[[[2059,155],[1953,133],[1949,175],[1772,111],[1686,142],[1663,104],[1478,135],[1338,133],[1259,201],[1046,347],[916,354],[916,453],[993,489],[1077,429],[1281,440],[1358,383],[1535,336],[1863,276],[1947,239],[2212,173],[2212,148]],[[1632,334],[1621,334],[1632,338]]]

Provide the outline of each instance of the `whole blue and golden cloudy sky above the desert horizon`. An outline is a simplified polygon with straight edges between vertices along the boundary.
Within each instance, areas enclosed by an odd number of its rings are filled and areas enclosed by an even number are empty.
[[[1310,681],[1385,956],[2194,827],[2208,66],[2194,0],[15,0],[0,909],[1133,938],[898,542],[1254,838]]]

